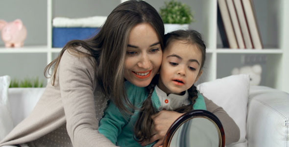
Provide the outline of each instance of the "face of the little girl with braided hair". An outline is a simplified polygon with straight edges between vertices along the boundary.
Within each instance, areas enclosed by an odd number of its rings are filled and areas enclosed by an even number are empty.
[[[199,76],[202,52],[196,45],[175,40],[164,50],[158,87],[167,94],[181,94],[193,86]]]

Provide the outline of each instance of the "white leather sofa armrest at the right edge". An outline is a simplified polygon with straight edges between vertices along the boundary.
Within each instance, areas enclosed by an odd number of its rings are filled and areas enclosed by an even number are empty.
[[[288,147],[289,94],[265,86],[251,86],[248,98],[249,147]]]

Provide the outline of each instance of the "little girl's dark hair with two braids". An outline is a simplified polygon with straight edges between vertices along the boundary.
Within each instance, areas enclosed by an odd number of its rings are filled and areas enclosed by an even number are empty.
[[[201,62],[201,69],[204,66],[205,59],[206,59],[206,45],[202,40],[202,36],[195,30],[177,30],[170,32],[165,35],[165,48],[169,46],[169,44],[173,43],[174,41],[185,41],[187,44],[197,45],[198,49],[202,52],[202,62]],[[148,92],[148,97],[144,101],[143,106],[140,110],[140,115],[135,124],[135,140],[138,142],[143,142],[145,140],[150,140],[150,138],[154,135],[152,134],[153,120],[151,116],[157,113],[156,108],[152,105],[152,93],[154,91],[154,87],[159,81],[159,75],[156,75],[149,86],[146,87],[146,91]],[[195,99],[197,98],[197,90],[196,87],[193,85],[190,89],[188,89],[189,99],[191,101],[190,105],[181,106],[173,111],[184,113],[193,110],[193,104],[195,103]]]

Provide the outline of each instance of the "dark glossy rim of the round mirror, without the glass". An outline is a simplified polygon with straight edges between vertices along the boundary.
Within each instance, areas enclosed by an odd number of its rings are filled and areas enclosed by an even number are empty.
[[[210,121],[212,121],[216,127],[219,129],[219,147],[225,147],[225,133],[224,128],[219,121],[219,119],[211,112],[206,110],[193,110],[191,112],[185,113],[182,116],[180,116],[172,125],[169,127],[169,130],[165,136],[163,147],[169,147],[171,137],[176,132],[176,130],[187,121],[196,118],[196,117],[202,117],[202,118],[209,118]]]

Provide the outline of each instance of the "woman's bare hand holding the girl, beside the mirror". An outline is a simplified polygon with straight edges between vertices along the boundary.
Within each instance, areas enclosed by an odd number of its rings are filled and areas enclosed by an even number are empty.
[[[168,110],[162,110],[159,113],[153,115],[151,118],[154,121],[154,128],[153,128],[154,135],[149,141],[143,142],[142,146],[146,146],[157,140],[159,141],[153,147],[159,147],[163,145],[163,142],[169,130],[169,127],[181,115],[183,114],[175,112],[175,111],[168,111]]]

